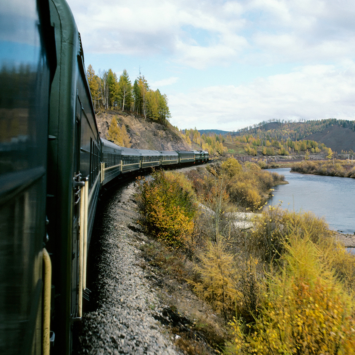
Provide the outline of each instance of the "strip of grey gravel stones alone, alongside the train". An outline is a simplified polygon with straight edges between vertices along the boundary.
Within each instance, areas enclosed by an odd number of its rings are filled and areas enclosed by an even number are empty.
[[[137,247],[144,236],[135,223],[134,192],[134,183],[116,192],[97,226],[94,237],[99,240],[92,246],[100,249],[100,259],[93,262],[96,307],[83,315],[80,354],[180,354],[154,318],[163,317],[164,305],[139,266]]]

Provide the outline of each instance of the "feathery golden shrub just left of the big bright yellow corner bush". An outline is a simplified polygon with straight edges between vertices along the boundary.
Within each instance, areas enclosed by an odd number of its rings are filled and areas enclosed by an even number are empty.
[[[189,280],[195,293],[209,302],[225,323],[236,312],[251,321],[259,306],[257,260],[236,258],[222,236],[217,242],[209,242],[198,257],[195,270],[199,277]]]

